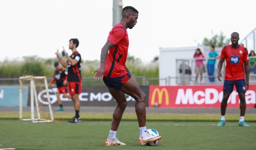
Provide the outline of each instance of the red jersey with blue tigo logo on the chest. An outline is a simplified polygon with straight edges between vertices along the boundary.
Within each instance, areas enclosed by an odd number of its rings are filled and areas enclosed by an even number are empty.
[[[245,47],[232,48],[231,45],[227,45],[222,48],[219,58],[226,59],[225,80],[244,79],[243,63],[249,61],[248,50]]]

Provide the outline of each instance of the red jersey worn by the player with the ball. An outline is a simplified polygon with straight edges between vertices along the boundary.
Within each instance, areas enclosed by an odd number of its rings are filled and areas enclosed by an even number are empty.
[[[125,69],[128,54],[129,39],[127,30],[123,24],[116,24],[108,35],[108,41],[114,46],[109,49],[105,62],[105,73],[107,77],[120,77],[127,73]]]

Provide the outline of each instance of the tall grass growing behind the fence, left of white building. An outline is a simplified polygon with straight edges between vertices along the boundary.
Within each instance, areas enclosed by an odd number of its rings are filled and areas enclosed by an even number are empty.
[[[65,60],[63,58],[63,60]],[[0,78],[16,78],[24,75],[53,77],[57,58],[43,59],[37,56],[23,57],[22,60],[5,60],[0,62]],[[99,60],[82,60],[82,77],[93,77],[92,72],[100,66]],[[158,77],[158,63],[143,64],[138,59],[128,60],[126,66],[133,76],[146,76],[148,78]]]

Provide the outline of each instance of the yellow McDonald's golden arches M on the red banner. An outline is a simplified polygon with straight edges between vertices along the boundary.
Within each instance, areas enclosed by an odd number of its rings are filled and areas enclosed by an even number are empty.
[[[151,105],[154,105],[155,103],[156,93],[158,94],[158,104],[162,104],[163,92],[165,92],[165,104],[169,105],[169,94],[166,88],[162,88],[161,90],[159,90],[159,88],[154,89],[151,98]]]

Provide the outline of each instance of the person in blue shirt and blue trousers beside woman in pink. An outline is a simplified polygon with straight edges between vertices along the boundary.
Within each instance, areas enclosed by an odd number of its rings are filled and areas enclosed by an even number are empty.
[[[209,81],[214,82],[214,68],[215,68],[215,63],[216,59],[219,58],[218,53],[214,50],[214,46],[211,45],[210,49],[211,51],[209,52],[209,57],[208,57],[208,62],[207,62],[207,72],[209,76]]]

